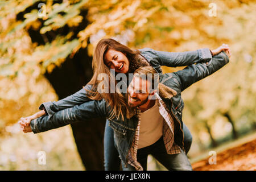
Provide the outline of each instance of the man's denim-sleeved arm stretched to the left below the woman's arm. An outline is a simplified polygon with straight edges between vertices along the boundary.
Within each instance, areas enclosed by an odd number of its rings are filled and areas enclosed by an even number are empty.
[[[56,112],[51,118],[48,116],[33,119],[30,127],[33,133],[40,133],[61,126],[69,125],[77,121],[85,121],[92,118],[108,117],[105,100],[89,101],[79,106],[74,106]]]

